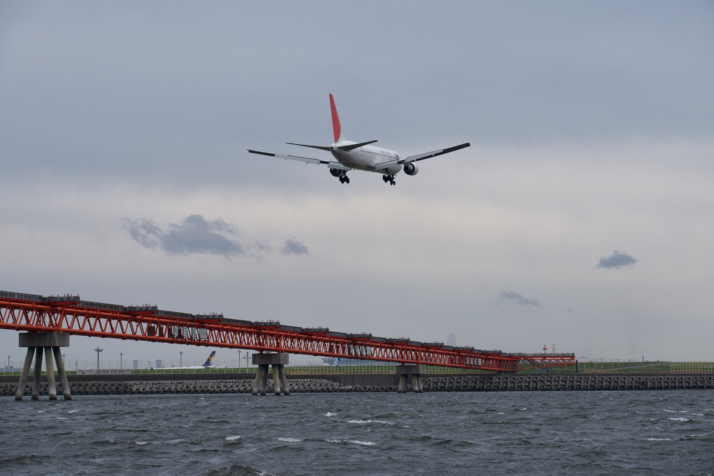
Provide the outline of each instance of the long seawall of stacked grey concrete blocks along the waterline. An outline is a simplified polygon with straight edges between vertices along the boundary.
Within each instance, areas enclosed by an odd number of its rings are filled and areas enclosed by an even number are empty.
[[[246,375],[247,377],[248,375]],[[146,395],[183,393],[251,393],[251,378],[220,378],[202,380],[200,375],[174,376],[161,379],[151,375],[95,375],[93,378],[71,379],[72,395]],[[134,377],[134,378],[133,378]],[[321,392],[396,392],[396,375],[322,375],[320,378],[288,378],[291,393]],[[18,378],[19,380],[19,378]],[[47,395],[47,383],[40,383],[40,395]],[[3,378],[0,396],[14,396],[17,381]],[[568,390],[712,390],[714,374],[661,375],[430,375],[422,377],[425,392],[513,392]],[[61,384],[57,382],[61,395]],[[411,384],[408,391],[411,391]],[[32,384],[26,384],[25,395],[31,395]],[[267,393],[274,393],[273,380],[268,380]]]

